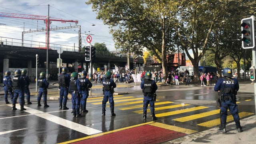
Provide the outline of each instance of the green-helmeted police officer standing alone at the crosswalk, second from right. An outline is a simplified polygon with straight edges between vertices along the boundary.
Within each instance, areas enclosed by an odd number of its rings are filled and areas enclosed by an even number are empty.
[[[143,119],[147,118],[147,109],[148,104],[150,104],[150,111],[152,115],[152,120],[157,120],[155,116],[155,102],[154,102],[154,93],[157,90],[157,85],[154,80],[152,80],[152,74],[150,71],[145,73],[145,80],[142,80],[140,84],[140,88],[142,89],[144,98],[143,98]]]

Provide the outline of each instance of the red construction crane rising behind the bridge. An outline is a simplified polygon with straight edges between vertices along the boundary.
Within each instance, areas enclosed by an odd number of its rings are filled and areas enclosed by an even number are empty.
[[[58,21],[62,23],[66,22],[75,22],[78,24],[78,20],[63,20],[63,19],[58,19],[58,18],[49,18],[49,26],[48,26],[48,16],[37,16],[37,15],[31,15],[31,14],[14,14],[14,13],[6,13],[6,12],[0,12],[0,16],[2,17],[9,17],[9,18],[24,18],[24,19],[31,19],[31,20],[45,20],[46,23],[46,44],[47,44],[47,30],[50,28],[50,23],[51,21]],[[50,29],[49,29],[49,41],[50,41]],[[50,42],[48,42],[50,43]]]

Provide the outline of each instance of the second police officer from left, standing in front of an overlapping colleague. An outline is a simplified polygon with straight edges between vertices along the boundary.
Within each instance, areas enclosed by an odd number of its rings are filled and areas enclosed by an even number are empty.
[[[24,90],[26,86],[26,80],[21,76],[20,69],[15,70],[14,77],[13,77],[13,86],[14,86],[14,97],[12,100],[12,110],[17,110],[16,102],[17,98],[20,98],[20,111],[26,110],[24,108]]]

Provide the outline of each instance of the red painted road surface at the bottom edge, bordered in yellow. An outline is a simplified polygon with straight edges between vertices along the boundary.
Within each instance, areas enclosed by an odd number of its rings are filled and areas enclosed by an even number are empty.
[[[181,132],[144,125],[81,140],[72,144],[159,144],[185,135],[186,134]]]

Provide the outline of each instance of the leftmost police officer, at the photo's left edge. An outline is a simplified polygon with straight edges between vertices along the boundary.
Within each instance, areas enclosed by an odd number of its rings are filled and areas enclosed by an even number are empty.
[[[12,79],[10,77],[11,72],[7,70],[4,73],[4,79],[3,79],[3,86],[4,86],[4,100],[6,104],[10,104],[8,101],[8,93],[10,94],[11,101],[13,99],[13,92],[12,92]]]

